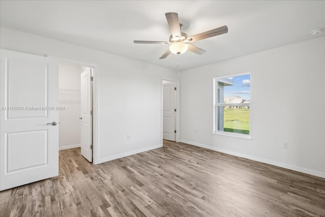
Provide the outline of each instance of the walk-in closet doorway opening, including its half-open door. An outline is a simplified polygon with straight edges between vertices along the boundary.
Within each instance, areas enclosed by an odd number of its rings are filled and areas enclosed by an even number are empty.
[[[80,147],[81,155],[93,158],[92,67],[59,64],[59,150]]]

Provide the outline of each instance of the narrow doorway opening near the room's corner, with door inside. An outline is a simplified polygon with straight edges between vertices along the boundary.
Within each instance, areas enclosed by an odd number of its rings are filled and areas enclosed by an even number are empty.
[[[161,138],[180,141],[180,91],[179,80],[161,80]],[[163,141],[162,143],[163,144]]]

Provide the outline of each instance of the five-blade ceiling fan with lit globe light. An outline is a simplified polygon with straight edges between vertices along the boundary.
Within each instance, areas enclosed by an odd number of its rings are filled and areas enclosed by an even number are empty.
[[[181,28],[183,27],[182,24],[178,21],[178,14],[177,13],[166,13],[167,22],[169,28],[171,30],[172,35],[169,37],[168,42],[163,41],[134,41],[136,44],[170,44],[169,49],[160,56],[159,59],[165,59],[169,54],[182,54],[185,53],[187,50],[197,53],[203,54],[206,50],[193,46],[191,42],[199,41],[202,39],[210,38],[213,36],[218,36],[221,34],[228,33],[228,27],[226,25],[221,26],[219,28],[211,29],[207,32],[200,33],[191,37],[187,37],[186,33],[181,33]]]

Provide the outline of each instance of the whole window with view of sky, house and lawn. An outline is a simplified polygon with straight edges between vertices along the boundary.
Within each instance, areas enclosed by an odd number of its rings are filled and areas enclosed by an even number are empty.
[[[250,138],[250,73],[214,78],[214,133]]]

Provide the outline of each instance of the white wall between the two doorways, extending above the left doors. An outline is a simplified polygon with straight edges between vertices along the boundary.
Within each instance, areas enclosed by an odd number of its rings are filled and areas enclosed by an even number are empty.
[[[98,163],[162,145],[161,77],[177,79],[176,70],[8,28],[0,34],[3,49],[98,65]]]

